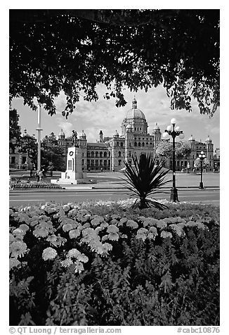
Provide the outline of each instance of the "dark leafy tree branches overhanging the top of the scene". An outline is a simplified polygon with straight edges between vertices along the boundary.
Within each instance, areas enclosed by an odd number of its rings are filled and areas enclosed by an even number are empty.
[[[98,100],[105,84],[125,106],[131,91],[163,85],[172,109],[214,115],[219,106],[219,10],[10,10],[10,101],[34,97],[55,114],[54,99],[67,96],[63,115],[80,95]]]

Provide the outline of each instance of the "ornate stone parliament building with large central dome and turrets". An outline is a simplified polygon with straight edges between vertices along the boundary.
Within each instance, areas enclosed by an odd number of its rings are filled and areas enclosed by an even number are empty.
[[[131,109],[127,110],[124,120],[121,124],[120,134],[117,130],[111,137],[104,137],[103,131],[98,134],[96,143],[88,142],[84,130],[76,144],[82,149],[82,166],[83,170],[112,170],[119,171],[124,168],[124,161],[131,164],[131,157],[136,155],[138,158],[142,153],[151,153],[153,157],[156,155],[156,148],[162,139],[162,132],[155,123],[155,127],[150,133],[148,131],[148,122],[145,114],[137,106],[134,98]],[[207,137],[205,142],[196,141],[194,137],[188,139],[192,152],[189,158],[176,159],[176,170],[187,170],[194,168],[194,162],[198,158],[199,153],[204,151],[209,160],[208,170],[214,169],[214,145],[212,140]],[[72,137],[65,137],[61,129],[58,135],[58,143],[65,150],[73,145]],[[172,161],[167,160],[167,167],[172,167]]]

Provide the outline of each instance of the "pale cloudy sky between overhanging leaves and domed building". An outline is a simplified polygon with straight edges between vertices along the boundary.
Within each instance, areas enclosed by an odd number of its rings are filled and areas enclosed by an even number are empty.
[[[205,141],[208,135],[211,137],[214,148],[220,146],[220,122],[219,109],[213,118],[208,115],[201,115],[197,107],[197,101],[192,101],[192,112],[187,110],[171,110],[170,99],[166,95],[164,87],[149,89],[147,93],[139,90],[136,93],[125,89],[124,96],[127,101],[126,106],[117,108],[115,99],[103,99],[105,86],[99,84],[97,87],[98,101],[84,101],[83,96],[72,115],[67,120],[61,114],[65,109],[65,95],[62,93],[55,99],[56,114],[51,116],[41,108],[41,139],[46,135],[54,132],[55,135],[63,129],[66,136],[70,136],[72,130],[76,130],[78,135],[82,130],[86,133],[89,142],[94,142],[99,138],[100,130],[103,130],[104,137],[111,137],[115,131],[121,133],[121,124],[126,112],[131,108],[133,96],[136,97],[138,108],[145,114],[148,122],[148,132],[152,134],[155,123],[159,125],[161,132],[164,132],[167,125],[170,124],[171,118],[176,118],[176,124],[183,130],[185,139],[188,140],[192,135],[197,141]],[[31,110],[28,106],[23,105],[22,99],[13,99],[12,108],[18,110],[20,115],[19,125],[21,131],[27,129],[27,134],[34,134],[37,137],[37,111]]]

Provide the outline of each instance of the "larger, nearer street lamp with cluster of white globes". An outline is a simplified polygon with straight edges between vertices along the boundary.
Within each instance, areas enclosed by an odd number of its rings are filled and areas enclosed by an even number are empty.
[[[176,119],[171,119],[171,125],[167,127],[167,129],[164,131],[164,134],[162,134],[162,137],[164,139],[167,139],[169,135],[171,135],[173,139],[173,187],[170,191],[170,201],[177,202],[178,201],[178,193],[176,189],[176,168],[175,168],[175,138],[178,136],[180,139],[183,139],[185,135],[183,134],[183,131],[180,130],[180,127],[176,126]]]

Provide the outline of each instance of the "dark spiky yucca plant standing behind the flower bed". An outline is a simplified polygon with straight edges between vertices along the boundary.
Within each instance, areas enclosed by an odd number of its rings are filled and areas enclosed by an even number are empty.
[[[133,192],[131,196],[138,196],[133,208],[143,209],[150,206],[160,210],[167,208],[164,204],[147,198],[150,194],[158,193],[164,184],[171,182],[171,180],[164,180],[169,170],[162,166],[162,160],[156,165],[156,158],[152,158],[150,153],[147,156],[140,155],[139,160],[137,156],[132,156],[132,159],[133,166],[124,161],[126,167],[124,175],[127,177],[127,183],[129,184],[126,188]]]

